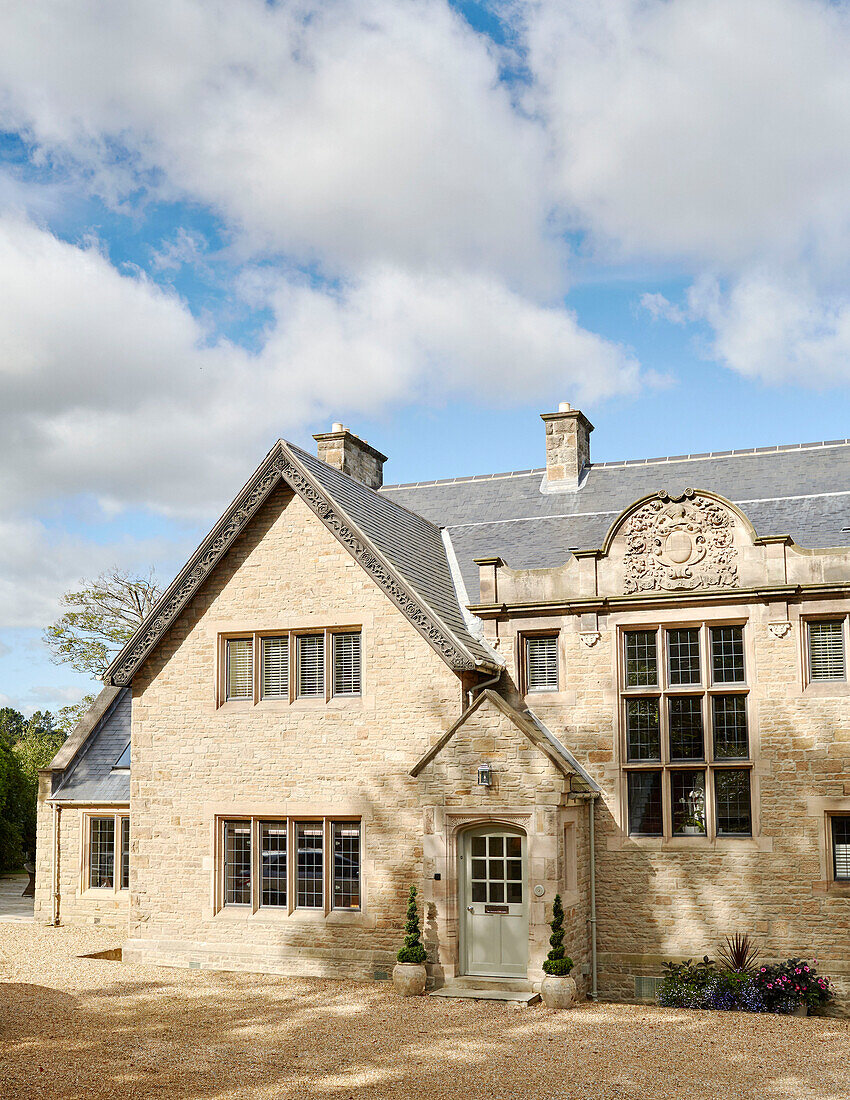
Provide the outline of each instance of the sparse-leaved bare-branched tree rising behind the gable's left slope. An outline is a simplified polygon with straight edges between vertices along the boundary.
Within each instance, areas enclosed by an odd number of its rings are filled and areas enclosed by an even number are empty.
[[[44,641],[57,664],[103,678],[112,660],[162,595],[153,572],[147,576],[113,569],[66,592],[67,610],[44,631]]]

